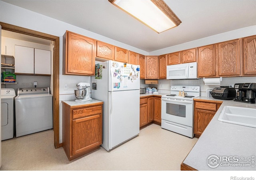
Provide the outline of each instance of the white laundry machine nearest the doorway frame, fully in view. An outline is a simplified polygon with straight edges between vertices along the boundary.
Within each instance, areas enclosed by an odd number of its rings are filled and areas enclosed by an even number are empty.
[[[19,88],[15,98],[16,137],[52,129],[49,88]]]

